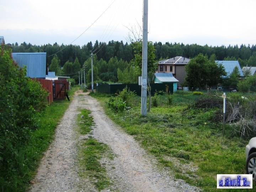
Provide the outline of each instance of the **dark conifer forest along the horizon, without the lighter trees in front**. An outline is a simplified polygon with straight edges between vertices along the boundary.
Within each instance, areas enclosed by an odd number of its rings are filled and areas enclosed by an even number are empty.
[[[215,54],[217,60],[239,60],[241,66],[256,66],[256,45],[244,45],[241,46],[208,46],[198,44],[183,44],[183,43],[153,43],[155,48],[155,60],[158,61],[162,58],[172,58],[176,56],[183,56],[187,58],[194,58],[199,53],[207,55],[208,58],[212,54]],[[62,50],[63,49],[63,50]],[[59,50],[62,50],[58,52]],[[60,66],[69,62],[74,62],[75,58],[78,58],[79,63],[82,65],[90,57],[91,50],[97,53],[97,59],[103,59],[106,62],[110,58],[117,57],[118,60],[122,59],[128,63],[134,58],[134,49],[132,44],[124,43],[123,41],[109,41],[98,42],[94,44],[89,42],[80,47],[77,45],[64,45],[64,44],[44,44],[44,45],[32,45],[31,43],[23,42],[20,45],[18,43],[12,44],[12,52],[47,52],[47,56],[57,53],[60,59]],[[54,55],[47,57],[47,64],[50,65]]]

